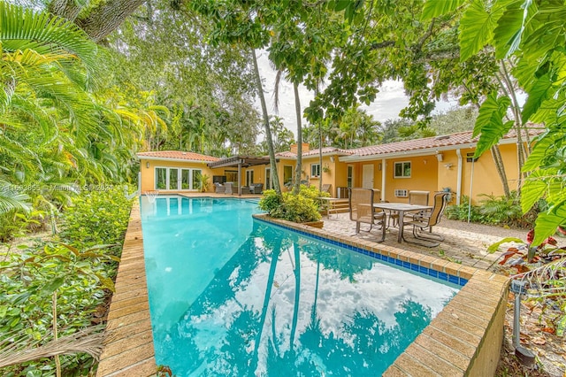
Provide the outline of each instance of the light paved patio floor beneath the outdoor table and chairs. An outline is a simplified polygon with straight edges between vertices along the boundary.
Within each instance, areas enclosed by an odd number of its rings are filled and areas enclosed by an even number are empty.
[[[356,235],[356,222],[349,219],[349,213],[331,214],[324,216],[323,220],[325,221],[324,229],[327,231],[340,235]],[[368,229],[369,226],[363,224],[361,228]],[[506,237],[524,239],[527,233],[502,227],[442,219],[438,227],[433,227],[433,232],[444,235],[445,240],[437,247],[427,248],[409,242],[398,243],[397,232],[396,227],[389,227],[386,230],[386,240],[382,244],[493,272],[499,270],[497,262],[501,260],[501,250],[507,250],[511,244],[503,244],[500,250],[493,254],[487,252],[487,248]],[[405,227],[403,233],[408,239],[412,238],[411,227]],[[362,231],[357,237],[376,242],[380,238],[379,229],[371,230],[369,233]]]

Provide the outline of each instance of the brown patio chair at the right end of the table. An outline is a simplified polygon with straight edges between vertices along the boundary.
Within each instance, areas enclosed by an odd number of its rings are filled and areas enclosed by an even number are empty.
[[[432,227],[440,223],[440,218],[444,209],[447,205],[447,192],[439,192],[434,195],[432,199],[432,210],[429,212],[419,212],[413,219],[408,219],[405,217],[403,219],[403,226],[410,225],[413,227],[413,236],[423,242],[414,242],[405,239],[405,242],[417,243],[422,246],[433,248],[440,245],[441,241],[444,241],[444,237],[439,234],[432,233]],[[428,232],[426,232],[428,231]]]

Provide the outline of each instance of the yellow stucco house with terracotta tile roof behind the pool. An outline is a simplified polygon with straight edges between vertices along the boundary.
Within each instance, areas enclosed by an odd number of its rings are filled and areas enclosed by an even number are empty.
[[[518,177],[516,142],[516,135],[509,133],[499,143],[510,188],[516,188]],[[409,190],[450,191],[452,204],[460,204],[462,196],[473,200],[480,194],[500,196],[501,180],[491,152],[472,158],[476,143],[471,132],[353,150],[311,150],[304,143],[302,180],[317,186],[322,180],[322,184],[331,185],[334,197],[347,197],[348,188],[379,188],[381,200],[390,202],[407,201]],[[269,158],[265,157],[220,159],[182,151],[142,152],[137,157],[142,193],[156,189],[160,193],[199,191],[198,177],[202,174],[210,179],[209,192],[214,191],[213,181],[232,181],[236,188],[251,183],[263,183],[264,189],[272,187]],[[294,179],[296,145],[277,153],[276,159],[281,187],[286,190]]]

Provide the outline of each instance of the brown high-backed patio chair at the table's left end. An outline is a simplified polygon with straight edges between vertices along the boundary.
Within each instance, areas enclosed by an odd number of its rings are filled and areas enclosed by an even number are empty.
[[[379,225],[382,242],[386,238],[386,214],[373,207],[373,190],[371,188],[349,188],[350,219],[356,221],[356,235],[360,233],[362,223],[369,224],[371,228]]]

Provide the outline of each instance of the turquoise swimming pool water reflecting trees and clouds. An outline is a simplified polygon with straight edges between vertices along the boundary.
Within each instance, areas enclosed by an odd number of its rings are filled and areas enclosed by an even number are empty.
[[[381,375],[459,290],[256,212],[142,198],[156,359],[175,375]]]

